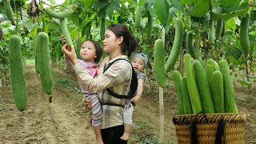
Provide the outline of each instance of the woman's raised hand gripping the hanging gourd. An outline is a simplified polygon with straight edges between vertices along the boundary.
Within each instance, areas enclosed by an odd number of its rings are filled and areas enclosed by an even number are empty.
[[[74,46],[71,45],[70,47],[64,44],[62,46],[62,52],[66,55],[67,58],[70,58],[70,61],[73,65],[78,63],[77,54],[75,54]]]

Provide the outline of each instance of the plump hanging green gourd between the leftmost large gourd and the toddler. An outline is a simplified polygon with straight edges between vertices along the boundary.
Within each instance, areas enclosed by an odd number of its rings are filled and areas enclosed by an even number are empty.
[[[45,32],[38,33],[37,46],[39,53],[39,74],[42,82],[42,89],[46,94],[50,95],[52,94],[54,88],[54,80],[50,64],[50,45],[48,34]]]

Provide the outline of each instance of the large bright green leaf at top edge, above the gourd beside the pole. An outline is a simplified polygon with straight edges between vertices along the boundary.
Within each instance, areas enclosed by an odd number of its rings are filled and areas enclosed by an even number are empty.
[[[166,0],[158,0],[154,3],[155,13],[158,15],[158,19],[162,25],[165,25],[169,19],[169,9],[170,6]]]

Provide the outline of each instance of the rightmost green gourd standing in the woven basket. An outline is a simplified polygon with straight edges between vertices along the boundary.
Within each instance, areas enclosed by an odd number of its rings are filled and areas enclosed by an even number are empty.
[[[230,68],[225,59],[218,62],[224,83],[224,102],[226,113],[238,113],[238,107],[234,100],[234,84],[230,77]]]

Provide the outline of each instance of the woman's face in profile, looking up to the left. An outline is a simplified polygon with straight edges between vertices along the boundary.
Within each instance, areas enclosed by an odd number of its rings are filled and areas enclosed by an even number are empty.
[[[105,39],[103,40],[103,51],[105,53],[113,53],[118,49],[119,44],[119,38],[117,38],[111,30],[107,29]]]

